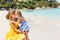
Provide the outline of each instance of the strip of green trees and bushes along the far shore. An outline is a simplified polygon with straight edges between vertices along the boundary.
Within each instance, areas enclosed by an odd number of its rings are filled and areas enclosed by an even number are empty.
[[[28,1],[28,2],[24,2],[24,1],[18,1],[18,2],[0,2],[0,9],[1,8],[5,8],[5,9],[9,9],[9,8],[18,8],[18,9],[23,9],[23,8],[28,8],[28,9],[35,9],[36,7],[50,7],[50,8],[56,8],[58,6],[58,2],[56,1]]]

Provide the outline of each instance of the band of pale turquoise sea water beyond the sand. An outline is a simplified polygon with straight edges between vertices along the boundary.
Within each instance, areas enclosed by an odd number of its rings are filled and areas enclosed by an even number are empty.
[[[23,14],[33,15],[33,16],[45,16],[60,18],[60,8],[49,8],[49,9],[39,9],[39,10],[22,10]]]

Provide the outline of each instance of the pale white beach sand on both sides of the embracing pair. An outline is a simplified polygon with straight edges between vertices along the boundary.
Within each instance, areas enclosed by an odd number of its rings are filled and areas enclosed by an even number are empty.
[[[6,33],[9,31],[6,14],[7,11],[0,11],[0,40],[5,40]],[[23,16],[30,25],[30,40],[60,40],[60,19],[27,14]]]

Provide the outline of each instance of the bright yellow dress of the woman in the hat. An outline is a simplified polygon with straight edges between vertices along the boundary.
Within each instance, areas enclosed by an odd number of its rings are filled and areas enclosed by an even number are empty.
[[[16,28],[17,27],[18,26],[16,25]],[[21,34],[21,33],[18,34],[16,32],[14,32],[14,30],[10,26],[10,31],[6,35],[6,40],[22,40],[23,38],[25,38],[24,34]],[[26,39],[24,39],[24,40],[26,40]]]

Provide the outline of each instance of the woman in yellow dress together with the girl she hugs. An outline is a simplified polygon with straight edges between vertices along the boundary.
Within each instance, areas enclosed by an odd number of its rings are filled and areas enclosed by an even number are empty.
[[[6,35],[6,40],[28,40],[29,26],[21,12],[11,10],[6,15],[9,20],[10,31]]]

